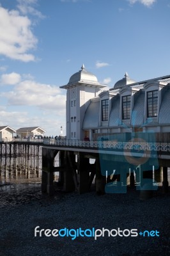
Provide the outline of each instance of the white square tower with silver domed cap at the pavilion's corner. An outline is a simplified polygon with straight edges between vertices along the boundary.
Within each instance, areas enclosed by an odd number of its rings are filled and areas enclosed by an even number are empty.
[[[98,83],[97,77],[88,72],[84,64],[79,72],[70,77],[68,84],[60,86],[66,92],[66,139],[83,140],[82,122],[89,105],[89,99],[96,97],[105,85]],[[99,109],[98,109],[99,111]]]

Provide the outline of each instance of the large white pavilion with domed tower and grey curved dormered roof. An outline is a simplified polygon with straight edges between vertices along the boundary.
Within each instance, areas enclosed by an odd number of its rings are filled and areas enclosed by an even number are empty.
[[[136,82],[128,74],[108,89],[82,65],[61,86],[66,93],[66,138],[98,134],[170,132],[170,75]]]

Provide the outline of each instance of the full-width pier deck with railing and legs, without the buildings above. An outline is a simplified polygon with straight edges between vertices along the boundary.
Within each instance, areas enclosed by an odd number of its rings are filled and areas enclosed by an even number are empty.
[[[139,136],[140,135],[140,136]],[[153,134],[152,134],[153,135]],[[121,136],[121,137],[120,137]],[[123,138],[124,137],[124,138]],[[89,140],[19,140],[0,143],[0,173],[42,172],[42,192],[54,195],[54,175],[65,192],[86,193],[95,183],[96,192],[127,193],[128,188],[150,191],[162,184],[169,189],[169,133],[112,134]],[[128,140],[127,140],[128,138]],[[120,140],[123,139],[123,140]],[[58,166],[55,159],[58,157]]]

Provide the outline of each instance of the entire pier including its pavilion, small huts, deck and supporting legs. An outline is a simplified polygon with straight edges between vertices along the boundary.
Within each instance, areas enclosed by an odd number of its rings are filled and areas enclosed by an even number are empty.
[[[82,65],[60,86],[66,90],[66,138],[43,138],[40,127],[22,127],[13,139],[14,129],[1,127],[1,168],[29,177],[41,166],[42,191],[49,195],[56,172],[65,192],[86,193],[95,183],[101,195],[135,188],[151,196],[158,184],[167,193],[169,84],[169,75],[136,82],[126,73],[108,90]]]

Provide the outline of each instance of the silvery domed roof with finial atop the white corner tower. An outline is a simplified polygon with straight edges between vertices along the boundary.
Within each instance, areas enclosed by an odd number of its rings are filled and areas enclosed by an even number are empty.
[[[98,83],[97,77],[93,75],[91,72],[88,72],[85,69],[84,64],[82,65],[81,70],[79,70],[79,72],[73,74],[70,77],[68,84],[75,84],[79,82]]]

